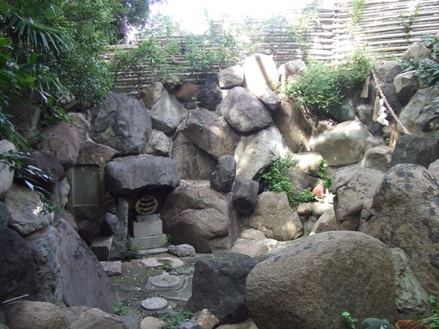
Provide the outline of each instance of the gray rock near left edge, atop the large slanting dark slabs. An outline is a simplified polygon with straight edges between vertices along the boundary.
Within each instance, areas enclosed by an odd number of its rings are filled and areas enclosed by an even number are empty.
[[[9,227],[21,236],[49,226],[54,219],[53,212],[43,212],[38,193],[16,184],[7,193],[5,205],[10,213]]]

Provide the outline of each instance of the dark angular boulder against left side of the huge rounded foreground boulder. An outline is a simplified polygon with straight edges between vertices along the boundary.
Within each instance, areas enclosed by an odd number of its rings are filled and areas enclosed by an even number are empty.
[[[246,278],[257,262],[250,256],[216,252],[195,263],[192,296],[186,308],[198,312],[207,308],[222,324],[248,318],[244,302]]]

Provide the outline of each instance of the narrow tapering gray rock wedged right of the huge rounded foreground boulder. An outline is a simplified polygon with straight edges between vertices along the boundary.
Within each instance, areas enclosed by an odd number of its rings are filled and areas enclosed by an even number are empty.
[[[396,308],[401,313],[424,314],[428,307],[428,293],[420,286],[402,249],[392,248],[395,270]]]

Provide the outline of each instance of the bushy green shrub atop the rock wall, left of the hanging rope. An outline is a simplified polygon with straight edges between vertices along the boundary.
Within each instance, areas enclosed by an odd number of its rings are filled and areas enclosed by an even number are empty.
[[[364,49],[357,49],[342,63],[311,61],[296,82],[287,84],[285,95],[312,110],[329,112],[331,106],[344,100],[342,90],[361,86],[372,67],[373,61]]]

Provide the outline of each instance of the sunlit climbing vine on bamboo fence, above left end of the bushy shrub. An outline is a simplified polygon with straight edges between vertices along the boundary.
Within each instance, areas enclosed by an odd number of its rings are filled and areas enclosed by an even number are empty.
[[[290,32],[296,42],[298,42],[303,58],[307,58],[309,42],[311,41],[311,34],[313,28],[320,24],[319,8],[322,0],[312,0],[305,5],[302,13],[295,19],[290,29]]]

